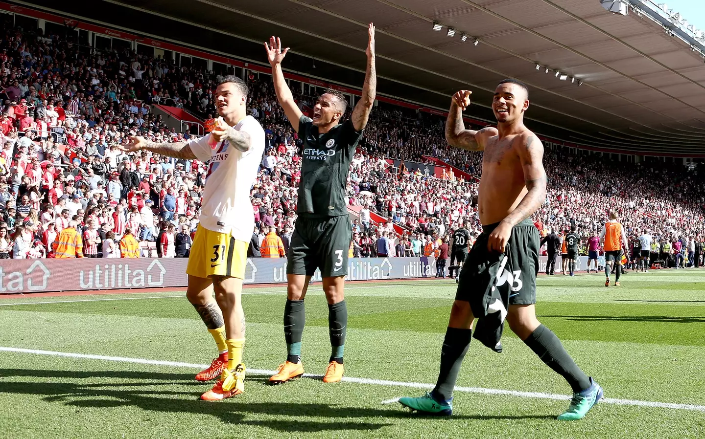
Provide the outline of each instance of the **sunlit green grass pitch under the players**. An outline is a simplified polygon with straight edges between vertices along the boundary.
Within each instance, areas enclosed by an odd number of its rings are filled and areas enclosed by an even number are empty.
[[[539,277],[539,319],[612,401],[582,421],[555,420],[565,400],[472,392],[455,393],[450,418],[426,418],[381,404],[421,395],[415,384],[300,378],[267,386],[264,374],[248,374],[243,395],[202,402],[211,384],[194,381],[188,365],[0,351],[0,438],[704,438],[705,270],[621,280],[605,288],[600,274]],[[285,290],[245,291],[250,369],[276,369],[286,358]],[[345,375],[435,383],[454,295],[447,280],[349,283]],[[322,374],[330,345],[319,285],[306,304],[302,361]],[[458,386],[570,393],[508,329],[503,344],[496,354],[473,341]],[[0,300],[0,346],[190,364],[216,354],[181,293]]]

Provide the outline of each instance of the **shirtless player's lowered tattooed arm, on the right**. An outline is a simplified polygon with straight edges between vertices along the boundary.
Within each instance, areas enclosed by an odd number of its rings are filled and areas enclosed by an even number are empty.
[[[517,139],[514,146],[524,170],[527,193],[519,205],[503,220],[512,227],[534,214],[546,201],[546,170],[544,170],[544,145],[537,136],[529,134]]]

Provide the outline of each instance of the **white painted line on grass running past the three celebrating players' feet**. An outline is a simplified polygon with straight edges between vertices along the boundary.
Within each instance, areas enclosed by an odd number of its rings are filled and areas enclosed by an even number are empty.
[[[194,363],[184,363],[184,362],[171,362],[162,360],[146,360],[143,358],[130,358],[130,357],[110,357],[108,355],[92,355],[92,354],[77,354],[72,352],[56,352],[54,350],[38,350],[38,349],[25,349],[25,348],[6,348],[0,346],[0,352],[21,352],[25,354],[37,354],[37,355],[55,355],[57,357],[68,357],[68,358],[83,358],[86,360],[104,360],[104,361],[114,361],[114,362],[126,362],[126,363],[139,363],[139,364],[154,364],[157,366],[171,366],[171,367],[188,367],[190,369],[204,369],[208,367],[208,364],[194,364]],[[266,369],[247,369],[247,371],[252,375],[273,375],[276,371],[266,370]],[[307,378],[321,378],[321,375],[314,374],[304,374]],[[374,386],[398,386],[398,387],[410,387],[410,388],[423,388],[429,389],[434,388],[433,384],[426,383],[406,383],[403,381],[387,381],[378,380],[372,378],[355,378],[351,376],[344,376],[343,381],[347,383],[356,384],[371,384]],[[501,390],[501,389],[491,389],[482,387],[455,387],[456,392],[467,392],[467,393],[480,393],[483,395],[505,395],[505,396],[516,396],[516,397],[531,397],[531,398],[541,398],[544,400],[558,400],[567,401],[570,400],[568,395],[558,395],[556,393],[543,393],[543,392],[522,392],[519,390]],[[398,397],[391,400],[382,401],[382,404],[391,404],[392,402],[397,402]],[[618,398],[604,398],[601,400],[602,403],[614,404],[614,405],[636,405],[639,407],[654,407],[659,409],[677,409],[677,410],[692,410],[695,412],[705,412],[705,405],[693,405],[693,404],[676,404],[674,402],[653,402],[653,401],[640,401],[640,400],[622,400]]]

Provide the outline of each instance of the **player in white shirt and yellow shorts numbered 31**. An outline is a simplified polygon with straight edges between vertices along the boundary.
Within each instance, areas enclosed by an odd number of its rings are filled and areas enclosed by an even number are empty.
[[[130,137],[124,151],[146,149],[186,160],[209,162],[198,229],[188,258],[186,297],[196,308],[220,352],[198,381],[219,378],[203,400],[243,393],[245,314],[240,302],[247,243],[255,227],[250,188],[264,151],[264,129],[247,116],[247,84],[235,76],[215,91],[218,119],[212,132],[188,142],[157,144]],[[215,300],[213,292],[215,291]]]

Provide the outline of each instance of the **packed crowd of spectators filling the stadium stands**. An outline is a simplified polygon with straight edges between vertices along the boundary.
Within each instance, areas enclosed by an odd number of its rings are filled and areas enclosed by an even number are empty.
[[[87,257],[188,257],[206,165],[146,151],[127,155],[118,144],[135,135],[189,139],[193,134],[168,128],[150,106],[175,105],[210,119],[221,74],[130,51],[80,50],[59,35],[7,26],[0,34],[0,258],[65,257],[78,253],[79,243]],[[278,257],[296,218],[301,142],[269,77],[248,73],[247,80],[248,113],[266,131],[252,187],[257,227],[250,255]],[[312,106],[312,97],[296,98],[302,110]],[[482,154],[448,146],[441,117],[379,103],[348,179],[349,204],[360,212],[351,254],[443,257],[446,244],[447,257],[454,229],[467,222],[472,236],[482,231],[477,184],[456,178],[450,167],[441,179],[424,174],[427,156],[482,173]],[[632,237],[653,235],[661,253],[669,243],[660,256],[680,263],[678,247],[682,259],[699,263],[705,189],[697,170],[549,148],[544,165],[548,195],[534,215],[541,234],[575,225],[587,244],[615,209]],[[372,212],[384,218],[375,222]]]

